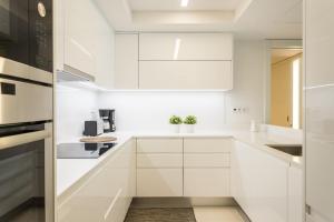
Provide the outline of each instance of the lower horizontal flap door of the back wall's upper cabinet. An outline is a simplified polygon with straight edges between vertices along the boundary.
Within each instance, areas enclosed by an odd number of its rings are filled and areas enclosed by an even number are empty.
[[[139,89],[230,90],[232,61],[140,61]]]

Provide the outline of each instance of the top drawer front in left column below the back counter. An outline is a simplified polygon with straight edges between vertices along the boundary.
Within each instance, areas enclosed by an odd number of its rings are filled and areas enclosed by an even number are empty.
[[[137,153],[183,153],[183,139],[138,139]]]

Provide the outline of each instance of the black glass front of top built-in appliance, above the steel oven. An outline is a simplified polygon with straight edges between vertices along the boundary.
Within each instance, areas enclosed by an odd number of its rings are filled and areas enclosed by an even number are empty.
[[[0,57],[52,72],[52,0],[0,0]]]

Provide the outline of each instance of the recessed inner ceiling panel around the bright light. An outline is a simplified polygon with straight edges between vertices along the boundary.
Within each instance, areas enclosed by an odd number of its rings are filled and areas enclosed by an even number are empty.
[[[132,11],[230,11],[243,0],[189,0],[188,7],[180,7],[180,0],[129,0]]]

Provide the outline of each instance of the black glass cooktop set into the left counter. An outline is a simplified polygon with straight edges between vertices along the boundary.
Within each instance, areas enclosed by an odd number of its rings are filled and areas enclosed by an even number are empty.
[[[117,143],[61,143],[57,145],[58,159],[98,159]]]

